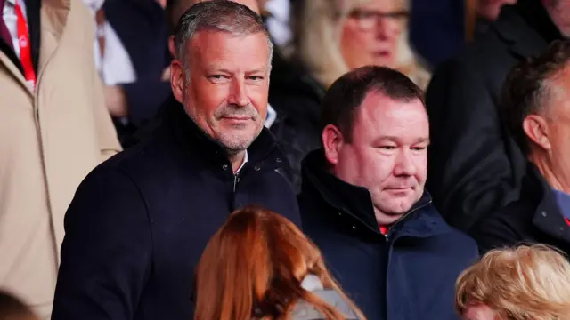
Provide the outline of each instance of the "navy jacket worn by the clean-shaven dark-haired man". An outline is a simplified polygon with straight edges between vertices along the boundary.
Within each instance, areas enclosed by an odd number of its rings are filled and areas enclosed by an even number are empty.
[[[369,320],[451,320],[454,285],[477,259],[475,241],[448,226],[426,193],[380,233],[371,195],[324,172],[322,150],[303,163],[303,228]]]

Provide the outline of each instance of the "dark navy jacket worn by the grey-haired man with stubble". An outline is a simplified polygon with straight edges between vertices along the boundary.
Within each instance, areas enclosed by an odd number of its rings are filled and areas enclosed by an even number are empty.
[[[192,319],[194,271],[229,214],[260,204],[300,225],[264,129],[235,176],[224,149],[172,99],[149,140],[91,172],[65,217],[53,320]]]

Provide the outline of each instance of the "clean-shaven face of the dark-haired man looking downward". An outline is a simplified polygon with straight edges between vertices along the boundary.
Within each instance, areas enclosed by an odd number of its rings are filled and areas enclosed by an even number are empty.
[[[429,124],[420,100],[392,100],[370,92],[354,119],[353,140],[338,151],[339,179],[367,188],[376,219],[389,225],[423,195]]]

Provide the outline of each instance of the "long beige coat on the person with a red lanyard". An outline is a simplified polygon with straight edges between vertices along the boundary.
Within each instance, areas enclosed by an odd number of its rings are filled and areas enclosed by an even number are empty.
[[[120,145],[94,68],[85,5],[22,4],[36,85],[28,85],[20,57],[0,37],[0,287],[47,318],[65,211],[81,180]]]

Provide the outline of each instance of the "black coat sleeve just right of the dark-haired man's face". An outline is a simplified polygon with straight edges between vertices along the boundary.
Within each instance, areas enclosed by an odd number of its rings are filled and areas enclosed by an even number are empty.
[[[436,72],[426,100],[428,189],[445,219],[467,230],[517,196],[493,94],[473,64],[452,60]]]

